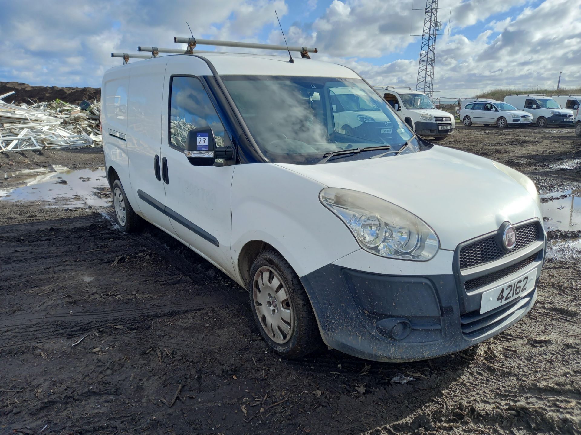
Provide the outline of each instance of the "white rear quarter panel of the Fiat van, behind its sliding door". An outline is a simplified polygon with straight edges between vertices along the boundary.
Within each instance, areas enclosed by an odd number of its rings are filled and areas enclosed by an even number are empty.
[[[103,131],[103,153],[106,170],[113,168],[121,184],[129,187],[127,142],[127,92],[129,90],[129,71],[114,68],[107,71],[101,86],[101,120]],[[112,180],[110,180],[112,182]],[[135,204],[131,189],[125,189],[131,205]]]

